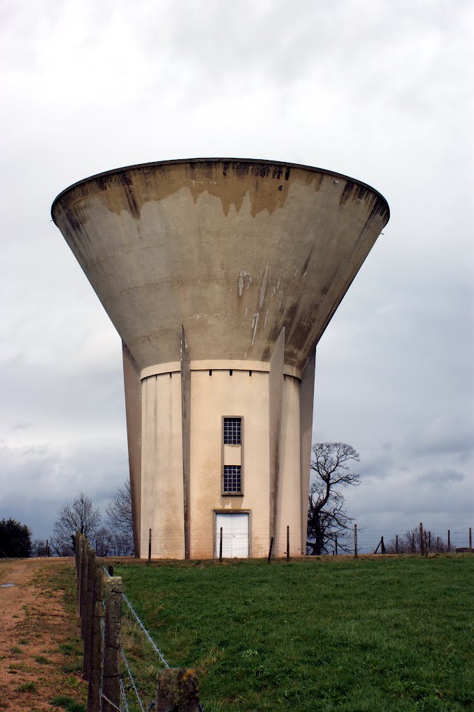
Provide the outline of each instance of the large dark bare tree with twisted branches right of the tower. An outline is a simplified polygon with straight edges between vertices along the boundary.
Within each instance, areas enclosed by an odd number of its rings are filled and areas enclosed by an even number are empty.
[[[311,450],[314,480],[309,488],[306,548],[312,555],[328,553],[337,537],[339,548],[346,551],[344,538],[352,518],[344,511],[339,490],[360,484],[359,475],[350,472],[351,464],[359,462],[359,453],[351,445],[333,442],[316,443]]]

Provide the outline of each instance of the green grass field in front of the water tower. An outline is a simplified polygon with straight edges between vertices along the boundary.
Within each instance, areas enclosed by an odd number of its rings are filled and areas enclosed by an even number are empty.
[[[470,555],[115,562],[206,712],[474,710],[473,574]],[[149,648],[128,623],[123,643],[151,700]]]

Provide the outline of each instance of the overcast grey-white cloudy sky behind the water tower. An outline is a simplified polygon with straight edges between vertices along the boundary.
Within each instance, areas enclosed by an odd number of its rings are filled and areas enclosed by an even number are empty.
[[[3,0],[0,518],[47,538],[128,473],[120,339],[49,214],[198,156],[371,184],[391,220],[319,343],[314,441],[361,453],[378,533],[474,525],[473,4]]]

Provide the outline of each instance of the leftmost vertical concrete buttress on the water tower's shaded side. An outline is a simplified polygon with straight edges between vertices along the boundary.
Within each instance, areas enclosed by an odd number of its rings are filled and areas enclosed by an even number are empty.
[[[132,493],[133,546],[140,557],[140,501],[142,480],[142,383],[140,371],[122,342],[125,414],[127,418],[128,466]]]

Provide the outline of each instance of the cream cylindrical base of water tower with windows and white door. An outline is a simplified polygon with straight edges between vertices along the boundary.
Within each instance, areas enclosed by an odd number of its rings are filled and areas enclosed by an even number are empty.
[[[288,541],[292,557],[304,555],[301,374],[191,361],[186,471],[181,365],[166,366],[140,374],[140,557],[151,542],[152,558],[185,558],[186,526],[192,559],[219,555],[221,528],[225,557],[267,556],[272,537],[275,556],[286,555]],[[125,377],[128,415],[138,393],[131,385]],[[137,468],[130,456],[130,471]]]

